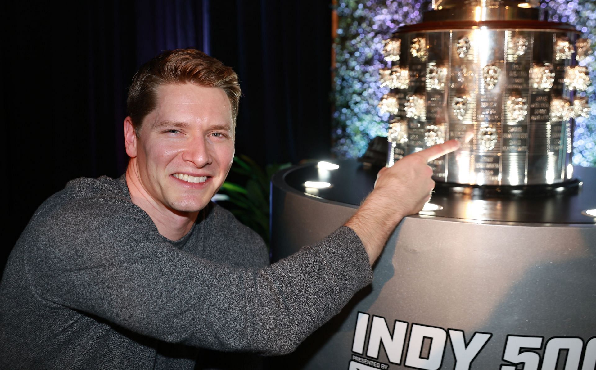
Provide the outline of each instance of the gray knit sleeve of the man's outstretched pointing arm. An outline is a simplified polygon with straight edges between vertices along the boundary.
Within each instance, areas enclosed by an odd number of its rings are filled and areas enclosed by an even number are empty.
[[[345,226],[271,266],[246,269],[173,248],[146,214],[122,207],[77,201],[33,223],[26,272],[39,299],[171,343],[279,355],[372,279],[362,242]]]

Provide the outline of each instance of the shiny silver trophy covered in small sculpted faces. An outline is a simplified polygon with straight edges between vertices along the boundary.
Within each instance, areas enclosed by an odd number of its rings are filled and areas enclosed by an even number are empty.
[[[384,41],[387,166],[457,138],[460,150],[430,163],[437,183],[572,182],[573,119],[589,114],[581,61],[592,51],[530,3],[434,1],[422,23]]]

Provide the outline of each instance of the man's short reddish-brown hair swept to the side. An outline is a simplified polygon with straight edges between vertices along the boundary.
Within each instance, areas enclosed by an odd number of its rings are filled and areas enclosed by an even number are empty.
[[[224,90],[235,125],[241,94],[238,75],[221,61],[197,49],[166,50],[145,63],[132,78],[126,107],[137,136],[145,116],[156,108],[157,88],[184,83]]]

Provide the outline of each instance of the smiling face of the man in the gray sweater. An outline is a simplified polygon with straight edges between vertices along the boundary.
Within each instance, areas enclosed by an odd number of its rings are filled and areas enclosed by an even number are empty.
[[[203,209],[234,158],[231,106],[225,92],[186,83],[157,88],[156,109],[135,139],[138,178],[156,206]],[[128,152],[127,148],[127,152]]]

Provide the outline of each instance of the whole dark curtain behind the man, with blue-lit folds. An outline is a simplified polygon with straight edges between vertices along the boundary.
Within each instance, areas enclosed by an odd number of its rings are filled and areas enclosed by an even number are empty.
[[[33,212],[67,181],[126,169],[122,122],[136,69],[194,46],[232,66],[237,154],[297,163],[330,153],[331,8],[325,1],[3,2],[8,206],[0,267]],[[10,174],[9,174],[10,171]]]

